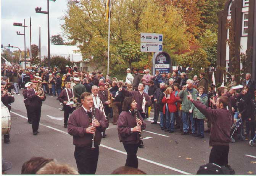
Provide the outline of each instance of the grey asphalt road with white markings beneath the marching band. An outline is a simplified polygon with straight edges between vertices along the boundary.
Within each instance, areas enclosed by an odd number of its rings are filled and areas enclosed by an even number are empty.
[[[72,136],[63,127],[63,114],[57,97],[49,97],[43,102],[39,134],[32,135],[31,124],[27,123],[26,108],[21,95],[14,95],[11,109],[10,143],[3,143],[2,157],[10,161],[13,167],[7,174],[20,174],[21,166],[33,156],[56,159],[76,168]],[[153,113],[151,116],[153,117]],[[138,149],[138,168],[147,174],[196,174],[196,171],[208,163],[209,133],[204,139],[191,135],[182,136],[164,132],[159,125],[151,125],[142,132],[145,148]],[[117,126],[109,123],[107,137],[101,140],[100,154],[96,174],[110,174],[126,162],[126,152],[118,140]],[[256,147],[249,146],[249,140],[236,140],[230,143],[229,165],[235,174],[256,174]],[[249,155],[249,156],[247,156]]]

